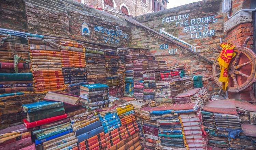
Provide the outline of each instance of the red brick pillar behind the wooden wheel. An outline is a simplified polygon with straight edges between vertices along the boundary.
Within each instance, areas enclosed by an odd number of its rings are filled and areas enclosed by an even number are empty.
[[[232,0],[230,16],[241,9],[251,9],[251,0]],[[230,19],[233,19],[235,17],[237,17],[237,16],[234,16]],[[227,36],[225,38],[226,41],[228,43],[232,43],[233,45],[241,46],[241,45],[243,45],[245,39],[247,37],[250,37],[250,40],[248,41],[246,47],[253,50],[253,47],[254,47],[253,41],[255,40],[254,36],[253,36],[254,26],[253,26],[252,19],[250,20],[250,16],[247,17],[246,19],[244,19],[244,17],[241,16],[240,20],[244,20],[244,21],[239,22],[239,23],[237,23],[236,21],[230,21],[230,19],[228,19],[225,14],[225,22],[233,23],[231,30],[225,32],[227,34]],[[241,56],[240,63],[245,63],[245,62],[248,62],[248,59],[245,56]],[[250,65],[247,65],[247,66],[242,67],[240,69],[240,71],[245,74],[250,74],[251,68],[252,67]],[[239,85],[243,84],[246,80],[247,79],[242,76],[237,76],[237,82]],[[232,82],[229,85],[233,86]],[[250,97],[251,89],[252,89],[252,87],[249,87],[240,93],[228,92],[228,94],[229,94],[230,98],[236,98],[236,99],[250,101],[251,100],[251,97]]]

